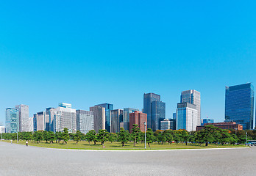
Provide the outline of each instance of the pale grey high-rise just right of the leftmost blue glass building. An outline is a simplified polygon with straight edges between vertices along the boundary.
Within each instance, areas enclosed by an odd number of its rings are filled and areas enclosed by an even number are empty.
[[[21,104],[15,106],[15,109],[18,109],[19,112],[19,131],[29,131],[29,106]]]

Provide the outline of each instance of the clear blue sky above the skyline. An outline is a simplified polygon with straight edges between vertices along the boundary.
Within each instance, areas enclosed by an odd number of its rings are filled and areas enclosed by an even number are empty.
[[[224,120],[225,86],[256,87],[255,1],[1,1],[0,121],[58,103],[143,108],[154,92],[172,116],[182,90],[202,118]]]

